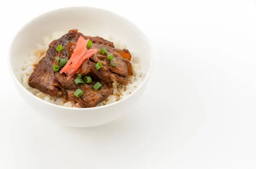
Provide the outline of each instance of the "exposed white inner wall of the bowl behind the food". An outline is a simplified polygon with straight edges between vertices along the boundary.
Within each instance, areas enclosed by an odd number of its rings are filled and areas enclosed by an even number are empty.
[[[29,52],[37,49],[43,38],[53,32],[79,29],[85,35],[108,37],[127,45],[136,61],[140,63],[143,77],[151,67],[151,48],[145,35],[127,19],[103,9],[70,7],[57,9],[36,17],[16,35],[10,49],[13,72],[20,70]],[[86,31],[86,33],[84,31]]]

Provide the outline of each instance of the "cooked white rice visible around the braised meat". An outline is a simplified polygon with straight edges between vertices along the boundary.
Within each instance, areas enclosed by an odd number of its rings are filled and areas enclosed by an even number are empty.
[[[44,37],[43,39],[44,44],[43,45],[37,44],[38,49],[35,49],[29,54],[29,57],[26,58],[26,60],[21,66],[20,71],[16,72],[16,75],[20,80],[20,82],[22,83],[22,85],[36,97],[39,97],[42,100],[45,100],[49,103],[57,104],[60,106],[73,107],[73,104],[70,101],[65,102],[63,98],[51,97],[43,92],[40,92],[38,89],[33,89],[28,84],[29,76],[34,71],[35,65],[37,65],[43,57],[45,57],[49,44],[53,40],[60,38],[64,34],[65,32],[54,32],[51,38]],[[115,42],[115,40],[113,40],[111,37],[108,37],[108,40],[111,40],[112,42],[114,42],[115,47],[118,49],[126,48],[125,44],[121,44],[119,41]],[[130,77],[129,83],[127,85],[122,85],[120,83],[113,82],[113,89],[114,89],[113,95],[108,96],[108,98],[103,100],[97,106],[104,106],[104,105],[116,102],[118,100],[121,100],[122,98],[125,98],[128,95],[130,95],[132,92],[134,92],[135,89],[137,89],[138,86],[140,86],[140,84],[142,83],[142,72],[140,69],[140,65],[134,62],[135,62],[135,59],[133,56],[131,60],[133,76]]]

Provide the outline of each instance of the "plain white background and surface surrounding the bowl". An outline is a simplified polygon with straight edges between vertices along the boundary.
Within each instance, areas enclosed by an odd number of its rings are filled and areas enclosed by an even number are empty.
[[[154,69],[136,111],[76,129],[49,123],[18,95],[12,38],[64,6],[114,11],[148,36]],[[256,168],[254,0],[7,0],[0,17],[0,169]]]

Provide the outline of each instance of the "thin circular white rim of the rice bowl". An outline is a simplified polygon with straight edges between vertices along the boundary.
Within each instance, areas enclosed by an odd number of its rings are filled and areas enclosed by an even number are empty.
[[[53,13],[53,12],[56,12],[56,11],[61,11],[61,10],[67,10],[67,9],[78,9],[78,8],[81,8],[81,9],[96,9],[96,10],[102,10],[102,11],[106,11],[106,12],[110,12],[120,18],[122,18],[123,20],[127,20],[131,25],[133,25],[136,29],[138,29],[140,31],[140,33],[144,36],[144,38],[146,39],[146,41],[148,42],[149,44],[149,48],[150,48],[150,58],[151,58],[151,62],[150,62],[150,67],[148,69],[148,72],[145,76],[145,78],[143,79],[141,85],[134,90],[134,92],[132,92],[131,94],[129,94],[127,97],[125,98],[122,98],[121,100],[118,100],[116,102],[113,102],[113,103],[110,103],[108,105],[104,105],[104,106],[98,106],[98,107],[90,107],[90,108],[76,108],[76,107],[66,107],[66,106],[60,106],[60,105],[57,105],[57,104],[53,104],[53,103],[50,103],[50,102],[47,102],[45,100],[42,100],[40,99],[39,97],[36,97],[35,95],[33,95],[31,92],[29,92],[21,83],[20,81],[17,79],[17,77],[15,76],[15,73],[14,71],[12,70],[12,66],[11,66],[11,49],[12,49],[12,46],[13,46],[13,43],[14,43],[14,40],[15,38],[17,37],[18,34],[20,34],[24,29],[26,29],[26,27],[29,25],[29,23],[33,22],[34,20],[40,18],[40,17],[43,17],[45,15],[48,15],[50,13]],[[129,97],[132,97],[132,95],[134,95],[135,92],[137,92],[140,88],[142,88],[143,86],[145,86],[145,82],[148,80],[149,78],[149,75],[151,74],[151,70],[152,70],[152,67],[153,67],[153,60],[154,60],[154,57],[153,57],[153,51],[152,51],[152,47],[151,47],[151,43],[150,41],[148,40],[148,37],[133,23],[131,22],[131,20],[128,20],[127,18],[123,17],[122,15],[120,14],[117,14],[113,11],[109,11],[109,10],[106,10],[106,9],[102,9],[102,8],[97,8],[97,7],[90,7],[90,6],[70,6],[70,7],[63,7],[63,8],[58,8],[58,9],[53,9],[53,10],[50,10],[50,11],[46,11],[42,14],[39,14],[38,16],[32,18],[31,20],[29,20],[28,22],[26,22],[20,29],[19,31],[17,31],[17,33],[15,34],[15,36],[13,37],[12,39],[12,42],[10,43],[10,46],[9,46],[9,50],[8,50],[8,66],[9,66],[9,71],[11,72],[11,75],[12,75],[12,79],[15,81],[15,83],[17,83],[17,85],[19,85],[21,87],[22,90],[24,90],[25,92],[27,92],[30,96],[34,97],[35,99],[39,100],[41,103],[43,104],[48,104],[49,106],[55,106],[56,108],[61,108],[61,109],[70,109],[70,110],[77,110],[77,111],[89,111],[89,110],[96,110],[96,109],[104,109],[104,108],[107,108],[107,107],[110,107],[110,106],[114,106],[118,103],[121,103],[123,102],[124,100],[128,99]]]

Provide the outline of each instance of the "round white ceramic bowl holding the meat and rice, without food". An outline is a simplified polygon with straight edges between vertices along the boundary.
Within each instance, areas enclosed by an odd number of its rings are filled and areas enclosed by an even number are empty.
[[[67,108],[48,103],[28,92],[15,76],[21,63],[29,52],[37,49],[43,37],[51,36],[56,31],[70,29],[87,30],[98,36],[111,35],[116,40],[127,44],[127,49],[138,57],[144,73],[143,83],[131,95],[110,105],[94,108]],[[82,32],[83,33],[83,32]],[[90,34],[88,34],[90,35]],[[42,14],[27,23],[15,36],[9,51],[9,66],[15,86],[20,95],[35,112],[49,120],[65,126],[91,127],[111,122],[123,113],[132,110],[132,106],[143,95],[153,56],[145,35],[124,17],[110,11],[91,7],[69,7]]]

